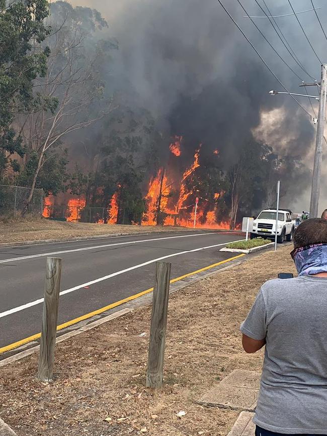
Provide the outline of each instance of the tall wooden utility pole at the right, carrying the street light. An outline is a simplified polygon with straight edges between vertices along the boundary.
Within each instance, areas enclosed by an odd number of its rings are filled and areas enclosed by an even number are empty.
[[[319,112],[318,112],[318,125],[317,135],[315,141],[314,164],[312,174],[312,187],[311,187],[311,200],[310,200],[310,218],[318,216],[318,204],[320,193],[320,175],[321,175],[321,161],[322,161],[322,141],[326,109],[326,90],[327,90],[327,65],[321,65],[321,84],[320,84],[320,98],[319,98]]]

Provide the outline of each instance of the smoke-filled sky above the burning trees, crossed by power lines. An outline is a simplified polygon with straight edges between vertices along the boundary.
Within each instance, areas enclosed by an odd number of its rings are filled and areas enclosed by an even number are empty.
[[[202,143],[202,153],[219,148],[227,167],[237,160],[243,144],[257,131],[259,139],[279,155],[300,156],[311,168],[315,131],[310,118],[289,96],[268,95],[270,90],[284,90],[216,0],[125,0],[119,2],[119,7],[114,3],[99,0],[82,3],[103,13],[110,33],[119,41],[111,73],[121,77],[123,86],[128,84],[136,90],[138,103],[161,119],[169,134],[183,135],[190,159]],[[260,3],[263,5],[262,0]],[[274,15],[291,13],[284,0],[266,3]],[[225,0],[224,4],[286,87],[305,94],[303,88],[298,88],[300,80],[272,51],[251,21],[244,18],[246,14],[237,1]],[[244,0],[242,4],[251,15],[263,15],[253,0]],[[297,12],[310,9],[306,0],[293,0],[292,4]],[[327,10],[320,9],[318,14],[327,30]],[[325,61],[327,42],[314,12],[298,17],[318,56]],[[295,17],[276,20],[300,61],[319,79],[319,61]],[[256,19],[256,23],[300,77],[312,81],[290,57],[268,19]],[[308,91],[317,92],[313,87]],[[299,100],[312,112],[308,99]],[[313,105],[316,110],[314,100]],[[273,109],[279,110],[271,112]],[[270,119],[266,116],[261,124],[267,113],[271,114]],[[307,171],[295,182],[292,175],[284,175],[282,184],[292,183],[286,200],[291,207],[308,208],[307,193],[303,198],[303,190],[310,185]]]

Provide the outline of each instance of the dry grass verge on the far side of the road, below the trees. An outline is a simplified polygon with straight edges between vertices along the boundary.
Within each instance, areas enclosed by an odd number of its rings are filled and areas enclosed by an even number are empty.
[[[0,221],[0,243],[167,230],[179,231],[181,227],[89,224],[26,218]],[[188,229],[183,227],[183,230]]]

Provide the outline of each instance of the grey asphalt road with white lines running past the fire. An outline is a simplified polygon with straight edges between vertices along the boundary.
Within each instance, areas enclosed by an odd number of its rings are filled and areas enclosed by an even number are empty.
[[[173,264],[173,279],[231,257],[219,249],[237,239],[181,232],[0,248],[0,348],[40,331],[46,256],[62,258],[62,324],[150,288],[156,260]]]

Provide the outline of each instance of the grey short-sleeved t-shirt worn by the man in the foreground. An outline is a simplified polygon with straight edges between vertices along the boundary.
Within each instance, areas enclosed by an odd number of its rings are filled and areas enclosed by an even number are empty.
[[[278,433],[327,434],[327,278],[268,281],[240,329],[266,338],[254,422]]]

